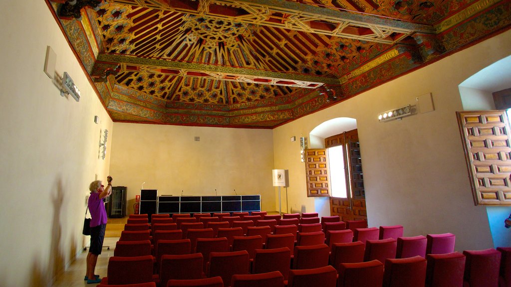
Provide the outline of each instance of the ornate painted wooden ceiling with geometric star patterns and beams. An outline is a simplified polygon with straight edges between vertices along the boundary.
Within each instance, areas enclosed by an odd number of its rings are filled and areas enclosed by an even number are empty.
[[[272,128],[509,29],[509,0],[45,0],[114,122]]]

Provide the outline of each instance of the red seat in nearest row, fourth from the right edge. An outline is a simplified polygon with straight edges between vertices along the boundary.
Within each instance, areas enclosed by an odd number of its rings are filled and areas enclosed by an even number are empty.
[[[424,287],[426,259],[421,256],[387,259],[383,268],[383,287]]]

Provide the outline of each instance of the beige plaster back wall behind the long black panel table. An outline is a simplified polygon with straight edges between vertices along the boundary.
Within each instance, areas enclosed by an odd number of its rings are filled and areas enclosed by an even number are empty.
[[[114,123],[110,171],[135,195],[260,194],[263,210],[275,210],[271,130]],[[195,137],[200,137],[195,141]]]

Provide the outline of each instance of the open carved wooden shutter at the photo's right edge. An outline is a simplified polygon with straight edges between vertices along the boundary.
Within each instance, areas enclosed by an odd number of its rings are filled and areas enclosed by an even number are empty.
[[[456,112],[475,205],[511,205],[511,146],[504,110]]]

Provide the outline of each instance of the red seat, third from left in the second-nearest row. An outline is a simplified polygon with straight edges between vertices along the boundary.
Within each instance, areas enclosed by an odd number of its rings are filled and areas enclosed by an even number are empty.
[[[231,284],[231,278],[235,274],[248,274],[250,259],[245,250],[234,252],[211,252],[208,264],[207,277],[220,276],[224,286]]]

